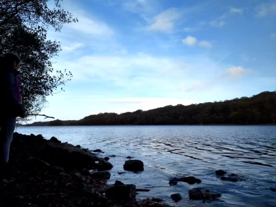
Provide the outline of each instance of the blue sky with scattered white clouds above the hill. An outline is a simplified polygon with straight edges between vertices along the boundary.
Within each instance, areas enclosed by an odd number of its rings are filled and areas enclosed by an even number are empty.
[[[64,92],[47,97],[42,114],[78,120],[276,90],[276,1],[64,0],[61,6],[79,21],[61,32],[49,28],[47,38],[63,50],[54,69],[73,77]]]

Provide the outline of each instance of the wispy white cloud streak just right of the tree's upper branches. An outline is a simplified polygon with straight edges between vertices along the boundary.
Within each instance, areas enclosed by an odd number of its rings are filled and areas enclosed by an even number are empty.
[[[89,18],[82,14],[75,15],[78,18],[78,22],[70,23],[65,28],[73,29],[77,32],[85,34],[91,34],[95,36],[110,36],[114,34],[112,28],[110,28],[105,22],[94,18]]]

